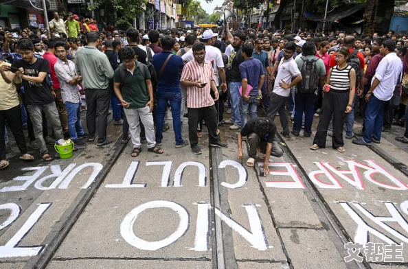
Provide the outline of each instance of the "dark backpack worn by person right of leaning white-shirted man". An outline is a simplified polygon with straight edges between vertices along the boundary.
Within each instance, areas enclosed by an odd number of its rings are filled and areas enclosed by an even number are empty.
[[[297,91],[299,93],[315,93],[317,85],[319,84],[319,75],[317,75],[316,62],[319,60],[317,56],[309,60],[306,56],[301,57],[303,60],[302,80],[297,84]]]

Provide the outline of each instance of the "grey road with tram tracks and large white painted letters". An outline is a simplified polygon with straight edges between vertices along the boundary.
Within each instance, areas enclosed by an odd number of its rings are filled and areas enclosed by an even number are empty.
[[[408,266],[408,148],[394,140],[403,128],[372,149],[345,140],[344,153],[277,135],[284,156],[270,159],[270,176],[240,163],[228,126],[227,149],[210,148],[204,128],[201,155],[174,148],[170,129],[164,154],[143,145],[132,158],[121,126],[108,132],[115,143],[67,160],[23,163],[12,152],[0,172],[0,268]],[[402,246],[403,261],[387,250],[346,262],[349,242],[363,253]]]

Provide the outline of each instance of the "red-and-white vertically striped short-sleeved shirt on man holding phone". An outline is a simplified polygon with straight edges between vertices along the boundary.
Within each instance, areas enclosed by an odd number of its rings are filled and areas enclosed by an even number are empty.
[[[204,88],[187,87],[188,108],[204,108],[215,104],[209,94],[211,91],[211,80],[215,80],[214,69],[209,60],[204,60],[203,66],[199,65],[196,60],[188,62],[184,66],[183,73],[181,74],[181,82],[185,80],[207,83]]]

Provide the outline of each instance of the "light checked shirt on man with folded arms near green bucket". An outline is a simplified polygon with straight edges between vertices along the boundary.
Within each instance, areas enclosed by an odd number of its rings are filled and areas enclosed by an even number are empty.
[[[80,95],[78,92],[78,84],[69,85],[68,83],[76,75],[75,64],[71,60],[64,62],[63,60],[58,59],[54,65],[54,70],[60,81],[63,102],[79,103]]]

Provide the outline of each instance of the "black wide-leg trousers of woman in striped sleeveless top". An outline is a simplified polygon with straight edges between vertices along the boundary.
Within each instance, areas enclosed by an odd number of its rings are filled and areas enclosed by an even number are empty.
[[[349,95],[348,91],[345,93],[335,93],[333,91],[324,93],[320,120],[317,125],[315,139],[313,140],[313,143],[318,145],[319,148],[326,148],[327,131],[332,118],[332,148],[343,147],[343,126],[345,118],[347,117],[345,108],[347,108],[348,105]]]

